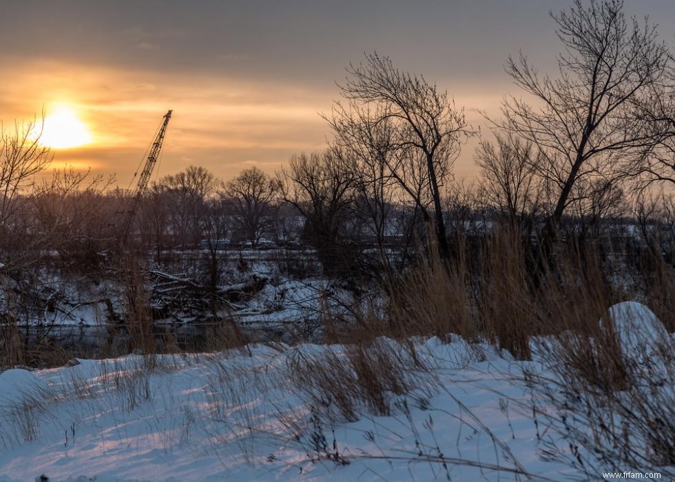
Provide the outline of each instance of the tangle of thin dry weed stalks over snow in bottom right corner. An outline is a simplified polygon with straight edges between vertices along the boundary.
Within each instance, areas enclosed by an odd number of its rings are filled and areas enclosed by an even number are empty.
[[[552,376],[526,374],[537,393],[532,412],[571,451],[551,444],[544,453],[591,477],[625,468],[674,477],[672,343],[652,345],[649,357],[626,356],[612,325],[603,323],[595,337],[567,332],[540,341],[539,356]]]

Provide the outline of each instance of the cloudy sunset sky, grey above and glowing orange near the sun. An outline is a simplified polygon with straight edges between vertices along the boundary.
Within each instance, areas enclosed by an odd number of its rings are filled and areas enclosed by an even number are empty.
[[[190,164],[222,179],[251,165],[273,173],[293,153],[325,147],[320,114],[338,97],[335,82],[377,51],[447,90],[487,136],[481,112],[496,116],[506,95],[519,95],[504,61],[522,50],[554,70],[560,46],[548,12],[569,3],[7,0],[0,120],[7,130],[67,112],[45,134],[74,117],[86,143],[54,148],[53,167],[115,174],[127,187],[172,109],[154,179]],[[663,40],[675,40],[672,0],[627,0],[626,10],[649,14]],[[464,146],[458,177],[475,174],[472,150]]]

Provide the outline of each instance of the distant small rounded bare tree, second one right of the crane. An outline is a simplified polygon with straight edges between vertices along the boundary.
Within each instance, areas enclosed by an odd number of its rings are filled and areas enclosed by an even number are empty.
[[[220,196],[231,207],[240,230],[255,247],[269,230],[280,181],[258,168],[242,170],[225,185]]]

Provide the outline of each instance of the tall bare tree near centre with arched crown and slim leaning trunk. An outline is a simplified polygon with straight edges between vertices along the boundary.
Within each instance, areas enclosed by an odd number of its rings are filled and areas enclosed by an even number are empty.
[[[439,251],[447,258],[441,193],[469,134],[463,110],[455,108],[447,92],[377,53],[350,64],[347,73],[339,86],[346,103],[337,101],[329,119],[340,145],[351,146],[362,158],[374,156],[380,175],[395,179],[428,216],[417,190],[424,185]]]

